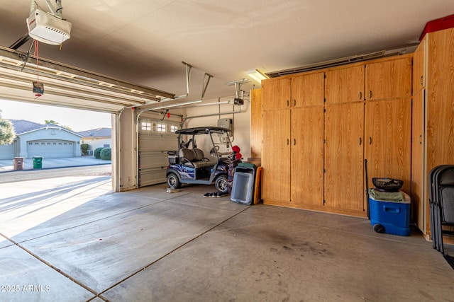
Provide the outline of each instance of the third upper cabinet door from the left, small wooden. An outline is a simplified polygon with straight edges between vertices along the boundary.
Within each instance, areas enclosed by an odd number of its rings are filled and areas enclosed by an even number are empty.
[[[364,65],[326,72],[326,104],[364,100]]]

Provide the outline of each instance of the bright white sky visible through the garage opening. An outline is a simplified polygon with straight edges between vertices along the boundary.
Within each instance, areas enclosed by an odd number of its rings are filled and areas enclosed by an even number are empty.
[[[6,120],[28,120],[45,124],[55,120],[60,126],[67,126],[74,132],[96,128],[111,128],[111,114],[49,105],[16,102],[0,99],[0,115]]]

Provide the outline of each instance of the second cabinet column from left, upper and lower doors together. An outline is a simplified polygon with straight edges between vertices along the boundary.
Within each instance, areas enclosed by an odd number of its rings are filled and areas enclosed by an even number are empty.
[[[323,204],[324,73],[292,77],[291,207]]]

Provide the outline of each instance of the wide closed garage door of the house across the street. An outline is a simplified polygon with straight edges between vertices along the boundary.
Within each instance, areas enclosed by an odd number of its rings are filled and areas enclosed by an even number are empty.
[[[28,141],[27,157],[43,156],[45,158],[61,158],[74,156],[74,141],[40,140]]]

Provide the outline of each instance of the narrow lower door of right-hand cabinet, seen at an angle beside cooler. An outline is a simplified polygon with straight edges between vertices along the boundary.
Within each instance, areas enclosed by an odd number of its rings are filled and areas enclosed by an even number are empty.
[[[413,221],[426,233],[426,205],[423,198],[424,92],[420,90],[414,95],[411,107],[411,207]]]

